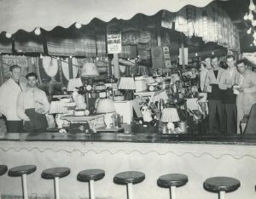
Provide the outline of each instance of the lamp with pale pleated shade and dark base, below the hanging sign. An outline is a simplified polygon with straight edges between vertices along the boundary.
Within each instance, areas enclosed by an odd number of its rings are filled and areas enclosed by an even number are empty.
[[[119,82],[119,90],[125,91],[125,99],[132,100],[134,90],[136,90],[133,77],[121,77]]]

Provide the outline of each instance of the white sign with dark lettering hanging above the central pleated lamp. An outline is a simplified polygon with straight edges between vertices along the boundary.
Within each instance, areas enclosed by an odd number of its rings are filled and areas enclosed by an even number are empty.
[[[122,52],[121,31],[117,23],[109,23],[107,26],[108,54]]]

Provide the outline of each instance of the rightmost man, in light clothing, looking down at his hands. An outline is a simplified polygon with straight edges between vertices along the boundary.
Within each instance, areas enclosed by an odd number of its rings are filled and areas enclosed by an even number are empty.
[[[247,70],[244,60],[236,62],[239,77],[236,84],[239,86],[237,90],[239,94],[236,98],[237,105],[237,134],[241,134],[240,122],[244,115],[248,115],[252,105],[256,103],[256,73]]]

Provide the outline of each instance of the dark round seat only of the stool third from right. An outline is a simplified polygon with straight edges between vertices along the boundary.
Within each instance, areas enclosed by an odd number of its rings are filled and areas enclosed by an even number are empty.
[[[120,185],[126,185],[128,183],[137,184],[145,179],[145,173],[138,171],[127,171],[122,173],[117,173],[113,181]]]

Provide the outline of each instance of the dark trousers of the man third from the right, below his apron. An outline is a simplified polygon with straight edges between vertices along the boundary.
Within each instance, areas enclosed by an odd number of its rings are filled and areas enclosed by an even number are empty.
[[[224,105],[221,100],[209,99],[209,132],[214,133],[214,128],[218,129],[218,133],[224,132]]]

